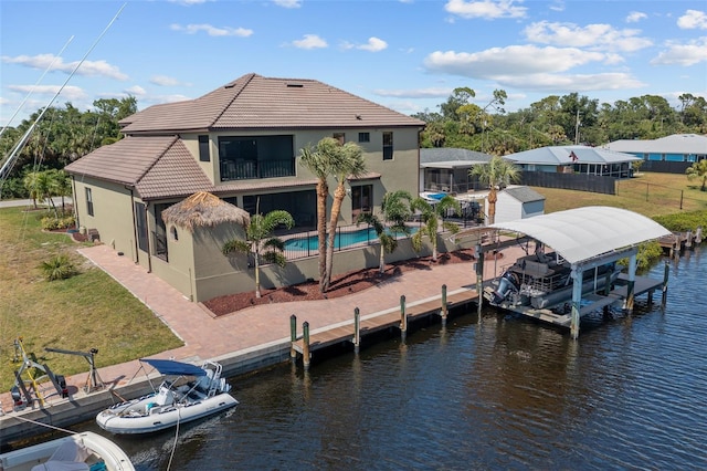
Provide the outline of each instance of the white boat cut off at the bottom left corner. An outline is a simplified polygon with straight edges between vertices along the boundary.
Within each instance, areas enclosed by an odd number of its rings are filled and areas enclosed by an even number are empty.
[[[0,454],[3,471],[135,471],[113,441],[85,431]]]

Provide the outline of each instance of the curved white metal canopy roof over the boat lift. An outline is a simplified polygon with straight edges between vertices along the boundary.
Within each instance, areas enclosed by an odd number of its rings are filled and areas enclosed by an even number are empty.
[[[669,236],[657,222],[620,208],[589,206],[490,226],[524,233],[578,263]]]

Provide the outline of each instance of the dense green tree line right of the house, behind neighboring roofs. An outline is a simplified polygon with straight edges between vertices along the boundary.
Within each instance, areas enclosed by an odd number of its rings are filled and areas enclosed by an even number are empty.
[[[601,146],[619,139],[656,139],[672,134],[707,134],[707,101],[689,93],[672,107],[657,95],[600,103],[570,93],[549,95],[506,113],[507,94],[494,91],[486,104],[472,103],[468,87],[455,88],[439,111],[414,114],[428,126],[421,147],[456,147],[504,156],[545,146]]]

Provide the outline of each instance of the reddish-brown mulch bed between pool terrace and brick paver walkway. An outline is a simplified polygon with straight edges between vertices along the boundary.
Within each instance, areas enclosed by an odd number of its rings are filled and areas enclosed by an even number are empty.
[[[276,290],[261,289],[262,297],[255,297],[254,291],[214,297],[203,303],[213,315],[221,316],[250,306],[292,301],[316,301],[346,296],[358,293],[387,280],[401,276],[410,270],[431,270],[432,266],[447,263],[463,263],[474,260],[474,249],[464,249],[443,253],[436,262],[431,257],[420,257],[401,262],[389,263],[383,273],[378,268],[356,270],[331,279],[326,293],[319,291],[319,282],[310,281]]]

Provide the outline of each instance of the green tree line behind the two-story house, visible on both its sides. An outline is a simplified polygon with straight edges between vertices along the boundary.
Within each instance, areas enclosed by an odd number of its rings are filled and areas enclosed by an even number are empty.
[[[571,93],[549,95],[529,107],[506,113],[507,94],[496,90],[482,105],[469,87],[455,88],[439,111],[412,115],[426,123],[421,147],[456,147],[504,156],[537,147],[567,144],[600,146],[618,139],[655,139],[672,134],[707,134],[707,101],[689,93],[672,107],[666,98],[642,95],[613,104]],[[102,98],[81,112],[71,103],[51,107],[34,125],[38,109],[17,127],[2,129],[0,155],[6,159],[32,125],[17,161],[0,181],[0,198],[29,198],[29,172],[63,169],[68,163],[120,139],[118,122],[137,112],[137,100]]]

